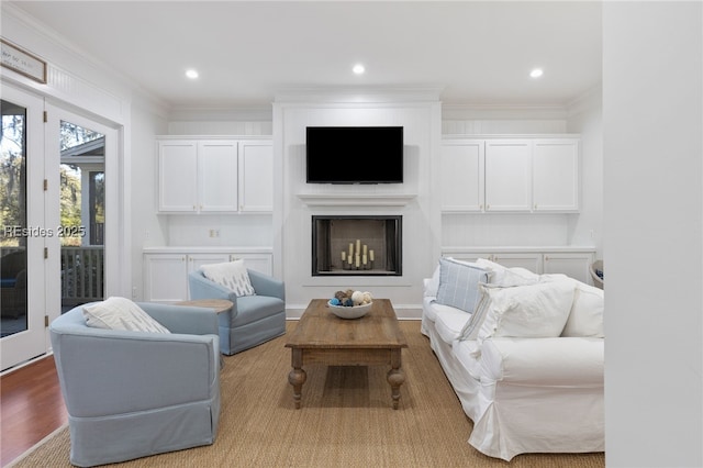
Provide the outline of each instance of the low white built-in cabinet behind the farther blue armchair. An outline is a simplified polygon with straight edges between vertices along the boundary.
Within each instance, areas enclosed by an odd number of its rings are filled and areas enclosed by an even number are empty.
[[[159,249],[156,249],[159,250]],[[175,247],[144,254],[144,300],[172,303],[190,299],[188,274],[202,265],[244,259],[247,268],[271,276],[269,252],[193,252]]]

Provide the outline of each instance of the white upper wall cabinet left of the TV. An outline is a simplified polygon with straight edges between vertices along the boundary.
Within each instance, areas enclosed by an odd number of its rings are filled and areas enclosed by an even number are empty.
[[[161,213],[271,212],[270,141],[159,137]]]

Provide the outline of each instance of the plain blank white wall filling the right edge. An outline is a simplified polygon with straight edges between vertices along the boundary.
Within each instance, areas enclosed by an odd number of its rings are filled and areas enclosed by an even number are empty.
[[[603,3],[605,460],[703,466],[703,5]]]

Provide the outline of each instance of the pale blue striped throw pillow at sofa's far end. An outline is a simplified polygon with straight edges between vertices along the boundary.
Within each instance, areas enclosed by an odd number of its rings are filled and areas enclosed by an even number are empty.
[[[479,283],[488,281],[486,270],[450,258],[439,259],[437,302],[473,313]]]

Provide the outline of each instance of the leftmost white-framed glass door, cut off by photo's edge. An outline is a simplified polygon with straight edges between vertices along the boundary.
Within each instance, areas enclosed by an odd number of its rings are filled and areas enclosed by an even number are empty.
[[[0,370],[46,353],[44,101],[2,86]]]

